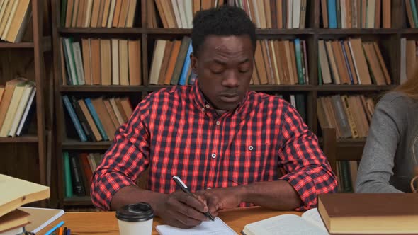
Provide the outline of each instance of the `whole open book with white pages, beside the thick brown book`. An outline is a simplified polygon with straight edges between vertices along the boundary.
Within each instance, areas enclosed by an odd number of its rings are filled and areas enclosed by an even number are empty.
[[[307,210],[301,217],[295,214],[282,214],[269,219],[245,225],[244,235],[327,235],[317,208]]]

